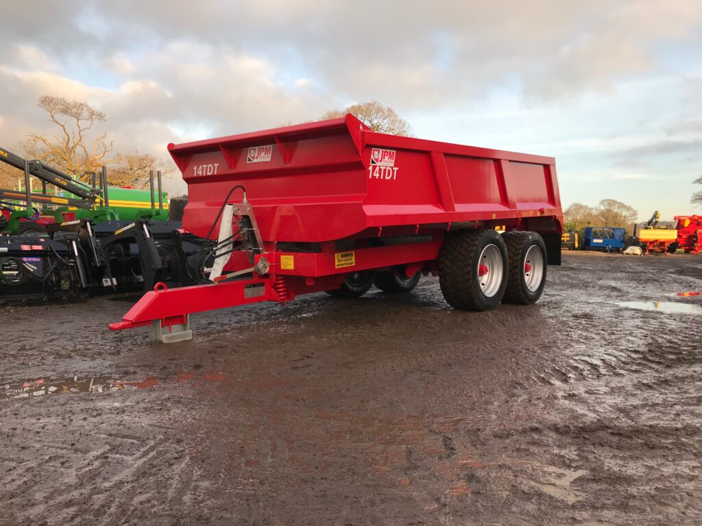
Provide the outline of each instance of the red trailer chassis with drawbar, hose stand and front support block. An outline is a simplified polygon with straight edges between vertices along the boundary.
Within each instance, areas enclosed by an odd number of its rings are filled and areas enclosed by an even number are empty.
[[[238,248],[230,248],[235,241],[232,231],[244,233]],[[110,329],[150,325],[151,339],[179,342],[192,339],[190,314],[259,302],[290,302],[296,295],[338,288],[350,270],[355,273],[401,268],[406,276],[420,270],[436,273],[431,264],[439,257],[442,237],[428,237],[430,241],[353,250],[338,250],[336,242],[331,241],[321,243],[321,252],[286,252],[276,250],[276,243],[260,241],[256,218],[248,203],[229,204],[218,241],[213,245],[214,259],[224,261],[229,256],[230,260],[248,261],[251,267],[244,264],[244,268],[220,273],[223,265],[217,269],[215,264],[209,283],[204,285],[168,288],[165,283],[157,283]]]

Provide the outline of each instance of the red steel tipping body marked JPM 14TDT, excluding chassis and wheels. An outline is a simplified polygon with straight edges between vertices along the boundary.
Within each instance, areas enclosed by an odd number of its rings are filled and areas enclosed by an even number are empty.
[[[561,228],[554,159],[375,133],[353,116],[168,150],[188,184],[183,226],[203,237],[232,184],[246,187],[263,241],[475,221]]]

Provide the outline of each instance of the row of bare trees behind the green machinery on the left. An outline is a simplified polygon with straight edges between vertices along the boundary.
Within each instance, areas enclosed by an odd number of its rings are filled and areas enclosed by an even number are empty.
[[[133,188],[147,186],[149,170],[161,170],[164,175],[173,171],[172,163],[151,154],[114,151],[106,133],[95,133],[105,114],[86,102],[43,95],[38,105],[57,131],[53,136],[28,133],[18,152],[27,159],[39,159],[86,182],[90,173],[108,166],[110,184]],[[12,188],[22,178],[20,170],[0,163],[0,188]]]

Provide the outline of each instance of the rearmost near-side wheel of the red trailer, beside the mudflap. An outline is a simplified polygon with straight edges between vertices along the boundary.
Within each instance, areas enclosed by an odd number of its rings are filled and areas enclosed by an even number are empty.
[[[541,297],[546,283],[546,246],[536,232],[506,232],[510,268],[505,303],[528,305]]]

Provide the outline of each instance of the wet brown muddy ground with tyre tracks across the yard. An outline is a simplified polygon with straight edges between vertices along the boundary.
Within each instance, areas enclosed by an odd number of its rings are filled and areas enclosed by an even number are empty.
[[[699,525],[699,289],[702,257],[565,254],[535,306],[425,279],[171,345],[107,331],[124,297],[0,309],[0,524]]]

